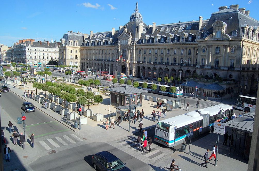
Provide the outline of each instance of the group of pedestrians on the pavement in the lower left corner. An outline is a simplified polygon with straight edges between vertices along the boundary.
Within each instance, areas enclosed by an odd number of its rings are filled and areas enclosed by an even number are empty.
[[[7,125],[7,129],[9,131],[10,134],[12,134],[12,137],[13,137],[13,144],[14,145],[18,145],[17,144],[17,140],[18,140],[18,137],[19,137],[19,146],[21,148],[24,149],[25,147],[25,135],[23,133],[18,133],[16,130],[13,130],[12,131],[12,126],[13,124],[11,123],[11,121],[9,121],[8,125]],[[34,134],[31,135],[30,137],[31,139],[31,147],[34,148]],[[1,130],[1,141],[2,141],[2,144],[4,145],[6,143],[6,139],[4,137],[4,130]],[[7,144],[5,144],[5,147],[4,147],[4,155],[5,155],[5,160],[10,162],[10,153],[12,152],[12,150],[10,149],[10,147],[8,147]]]

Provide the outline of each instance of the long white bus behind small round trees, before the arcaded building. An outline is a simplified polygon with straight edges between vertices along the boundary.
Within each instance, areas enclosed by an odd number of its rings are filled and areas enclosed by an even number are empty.
[[[142,84],[144,83],[144,82],[142,82],[142,81],[138,81],[139,82],[139,87],[137,87],[137,88],[139,88],[139,89],[143,89],[143,90],[147,90],[148,92],[151,92],[151,88],[150,88],[150,86],[153,84],[153,83],[147,83],[147,88],[143,88],[143,86],[142,86]],[[164,94],[164,95],[167,95],[167,96],[173,96],[173,97],[175,97],[175,96],[177,96],[177,97],[179,97],[179,95],[180,96],[182,96],[183,95],[183,88],[182,87],[176,87],[176,93],[171,93],[170,92],[170,88],[172,87],[172,86],[167,86],[167,85],[161,85],[161,84],[155,84],[156,86],[157,86],[157,89],[154,91],[154,93],[155,94]],[[160,87],[161,86],[165,86],[166,87],[166,91],[160,91]],[[179,89],[180,89],[180,92],[179,92]]]

